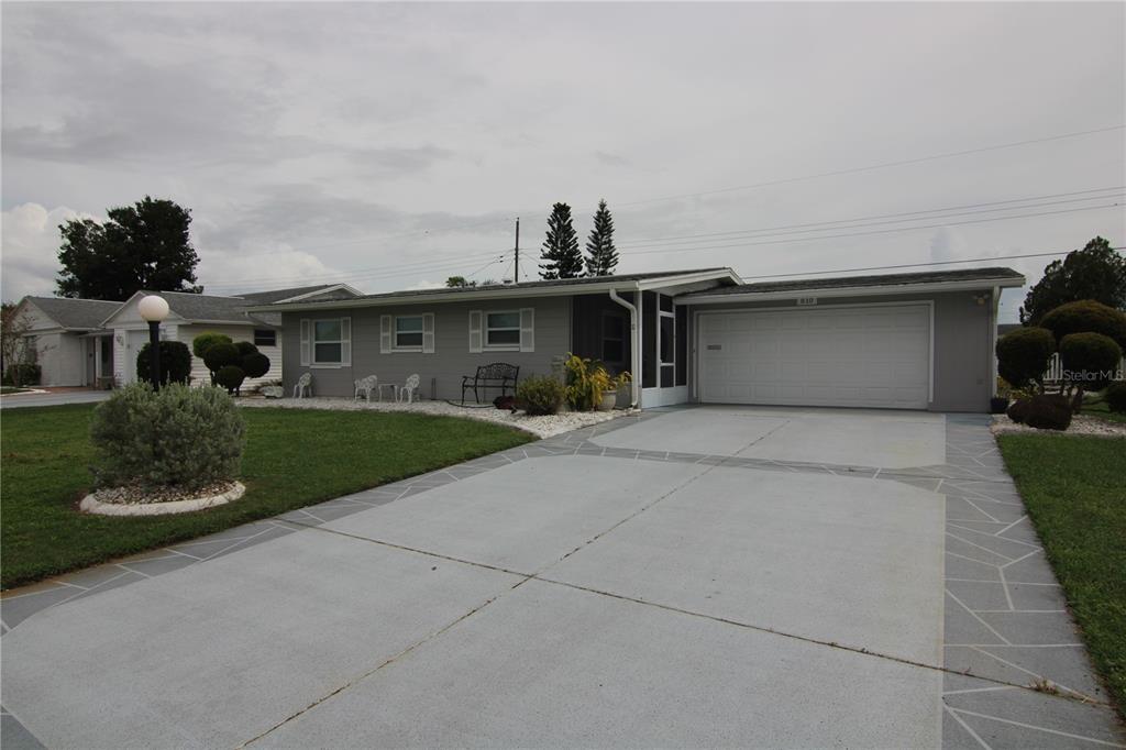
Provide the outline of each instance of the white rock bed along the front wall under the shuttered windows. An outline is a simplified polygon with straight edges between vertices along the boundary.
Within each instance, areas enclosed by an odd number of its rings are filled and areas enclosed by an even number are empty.
[[[405,411],[418,414],[436,414],[440,417],[462,417],[483,422],[507,425],[518,430],[531,432],[538,438],[548,438],[563,432],[570,432],[581,427],[590,427],[618,417],[636,414],[634,409],[615,409],[614,411],[566,411],[546,417],[529,417],[524,412],[515,414],[506,409],[492,407],[457,407],[446,401],[415,401],[401,403],[395,401],[372,401],[355,399],[329,399],[310,396],[305,399],[239,399],[238,403],[245,408],[267,407],[271,409],[328,409],[336,411]]]

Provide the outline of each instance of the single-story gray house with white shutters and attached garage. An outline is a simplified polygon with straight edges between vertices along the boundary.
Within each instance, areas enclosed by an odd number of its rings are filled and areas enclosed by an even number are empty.
[[[418,373],[461,399],[504,361],[546,374],[568,351],[635,374],[632,401],[985,411],[1009,268],[743,284],[730,268],[420,289],[249,307],[280,313],[284,378],[351,396]]]

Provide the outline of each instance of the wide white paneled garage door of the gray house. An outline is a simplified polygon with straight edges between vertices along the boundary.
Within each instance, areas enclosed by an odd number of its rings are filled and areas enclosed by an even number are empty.
[[[927,408],[928,305],[708,312],[699,321],[705,403]]]

